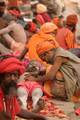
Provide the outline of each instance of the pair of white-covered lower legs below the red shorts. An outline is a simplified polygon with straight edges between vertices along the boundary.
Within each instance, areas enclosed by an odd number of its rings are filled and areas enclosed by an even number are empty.
[[[22,103],[21,107],[23,109],[27,109],[27,99],[28,99],[28,95],[29,95],[28,90],[25,89],[25,88],[19,87],[18,90],[17,90],[17,93],[18,93],[19,100]],[[43,91],[42,91],[41,88],[36,88],[32,92],[31,97],[32,97],[32,102],[33,102],[33,104],[32,104],[33,109],[36,108],[37,102],[42,97],[42,95],[43,95]]]

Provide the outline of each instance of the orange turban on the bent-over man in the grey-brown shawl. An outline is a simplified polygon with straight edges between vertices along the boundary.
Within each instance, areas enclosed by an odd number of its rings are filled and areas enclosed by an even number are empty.
[[[47,52],[53,48],[57,48],[58,46],[50,43],[49,41],[44,41],[41,44],[37,46],[37,53],[43,54],[44,52]]]

